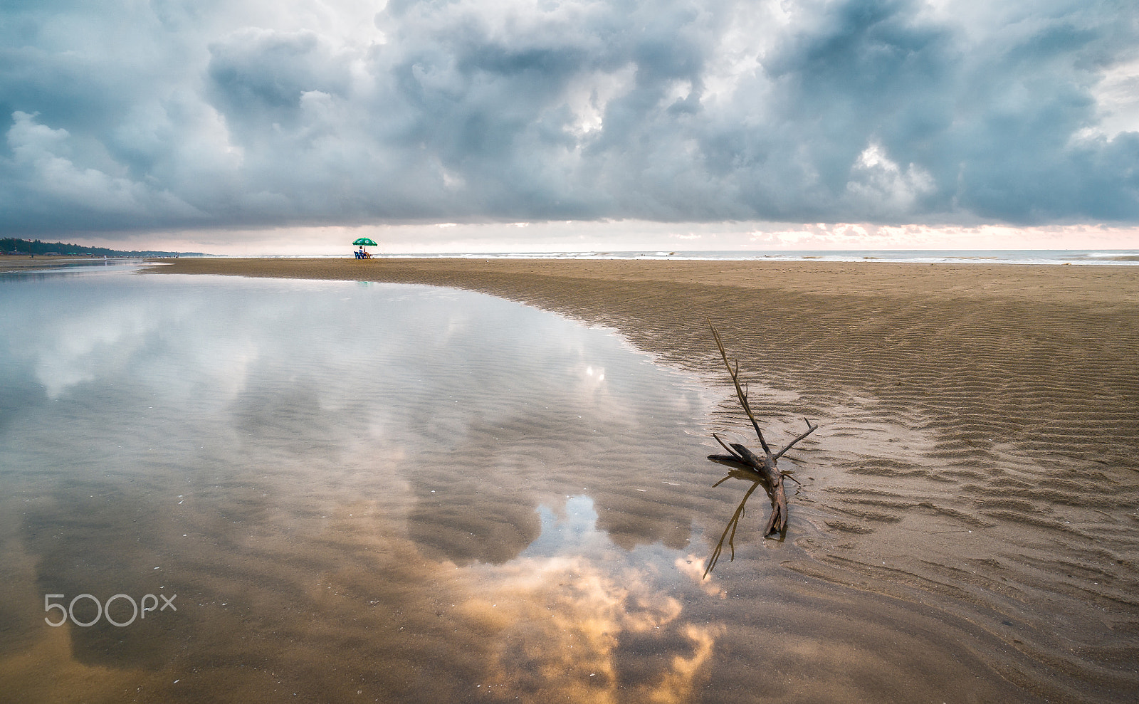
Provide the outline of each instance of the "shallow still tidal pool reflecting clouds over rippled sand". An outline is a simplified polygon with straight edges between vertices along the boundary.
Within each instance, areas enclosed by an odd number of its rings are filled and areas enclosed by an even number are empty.
[[[828,579],[794,488],[787,540],[755,535],[760,492],[703,580],[746,489],[704,459],[723,390],[609,330],[355,283],[76,272],[0,300],[18,701],[1033,701],[1056,677],[980,616]]]

